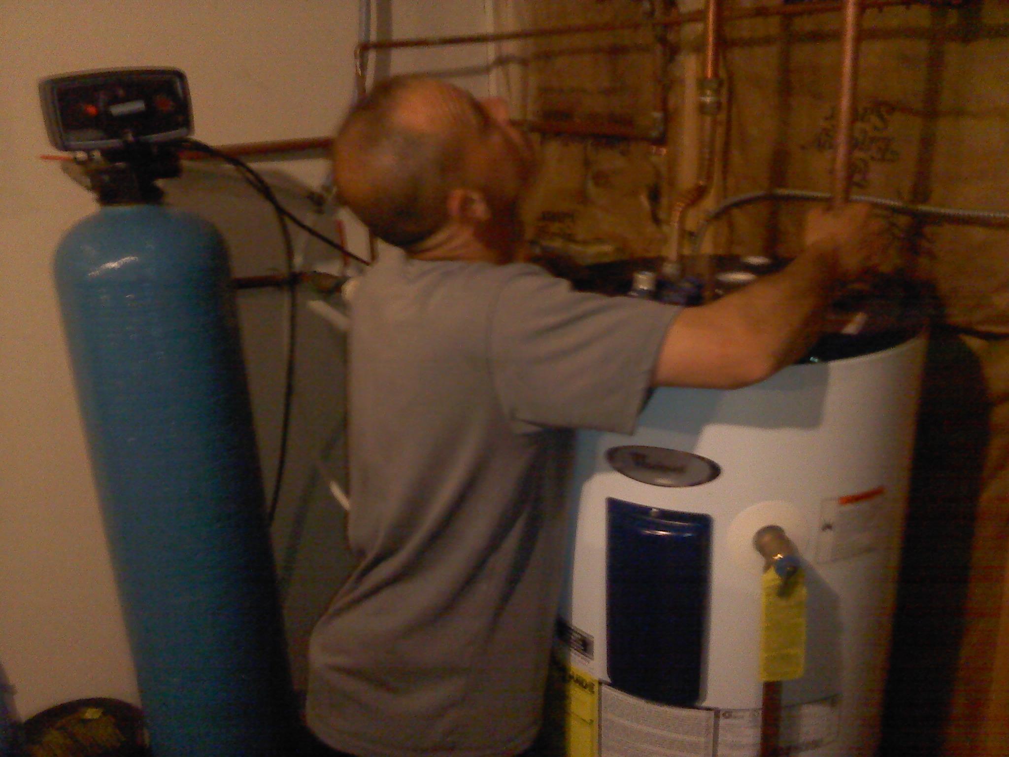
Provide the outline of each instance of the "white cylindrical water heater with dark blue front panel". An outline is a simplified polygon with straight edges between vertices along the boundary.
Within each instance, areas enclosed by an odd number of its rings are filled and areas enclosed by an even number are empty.
[[[569,757],[757,757],[762,575],[781,527],[805,664],[778,754],[878,741],[921,336],[736,391],[662,389],[632,436],[582,433],[559,629]]]

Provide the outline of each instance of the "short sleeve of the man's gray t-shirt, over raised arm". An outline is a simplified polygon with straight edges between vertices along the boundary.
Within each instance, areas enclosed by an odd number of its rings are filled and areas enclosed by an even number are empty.
[[[489,319],[491,372],[518,432],[543,427],[631,433],[679,308],[574,292],[516,266]]]

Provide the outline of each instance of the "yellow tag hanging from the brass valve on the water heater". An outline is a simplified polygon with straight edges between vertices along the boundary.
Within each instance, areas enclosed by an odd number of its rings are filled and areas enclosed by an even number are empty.
[[[801,678],[806,663],[805,573],[800,568],[782,580],[768,569],[761,584],[761,680]]]

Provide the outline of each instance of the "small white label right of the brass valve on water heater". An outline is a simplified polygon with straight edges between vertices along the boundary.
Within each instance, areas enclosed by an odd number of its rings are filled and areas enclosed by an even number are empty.
[[[816,561],[833,562],[879,549],[885,526],[883,486],[824,500],[816,535]]]

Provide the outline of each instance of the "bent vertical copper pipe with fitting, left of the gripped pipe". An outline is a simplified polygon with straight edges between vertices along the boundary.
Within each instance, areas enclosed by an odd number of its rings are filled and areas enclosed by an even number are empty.
[[[700,81],[698,105],[701,112],[701,145],[697,183],[676,198],[669,214],[669,244],[662,261],[661,275],[675,278],[683,246],[683,216],[707,194],[714,176],[715,140],[718,135],[718,112],[721,110],[721,80],[718,78],[718,44],[721,36],[721,0],[707,0],[704,29],[704,78]],[[672,154],[670,154],[672,159]],[[670,179],[673,172],[670,170]]]

